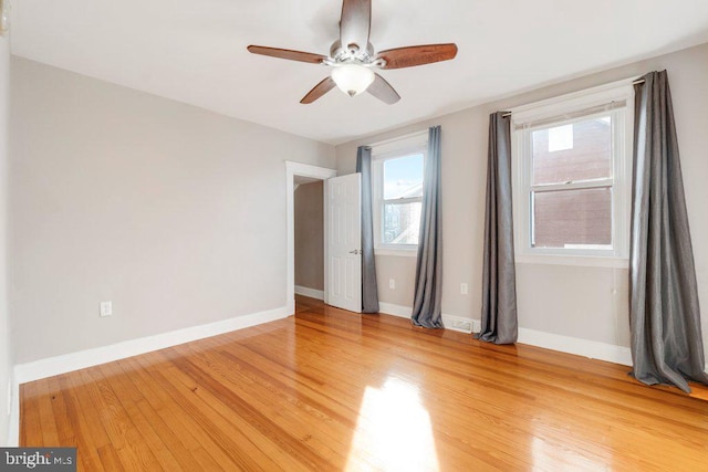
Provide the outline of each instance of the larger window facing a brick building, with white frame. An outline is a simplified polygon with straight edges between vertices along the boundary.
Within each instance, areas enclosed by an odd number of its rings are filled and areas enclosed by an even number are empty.
[[[627,258],[631,87],[513,112],[520,255]]]

